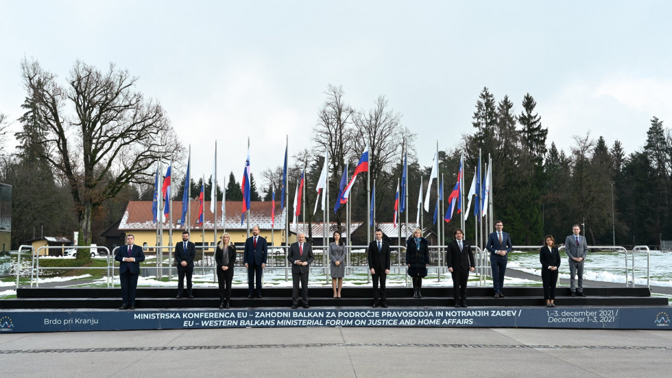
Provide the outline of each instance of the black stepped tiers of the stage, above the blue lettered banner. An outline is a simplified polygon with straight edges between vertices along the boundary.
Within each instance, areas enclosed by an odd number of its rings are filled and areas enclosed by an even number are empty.
[[[541,287],[505,287],[506,298],[494,298],[492,287],[470,287],[467,290],[467,305],[470,307],[542,307]],[[647,287],[587,287],[586,297],[571,297],[570,290],[557,290],[555,304],[566,306],[667,306],[667,298],[652,297]],[[219,292],[215,288],[195,288],[193,299],[176,299],[174,288],[138,289],[137,309],[184,309],[217,308]],[[291,306],[291,288],[267,288],[264,298],[248,298],[246,288],[232,290],[233,308],[285,309]],[[372,305],[370,287],[346,287],[343,298],[333,298],[329,287],[309,289],[311,307],[361,307]],[[16,299],[0,300],[0,309],[113,309],[121,305],[119,288],[19,288]],[[387,305],[392,307],[453,307],[452,287],[427,287],[422,289],[423,298],[413,298],[413,290],[407,287],[388,287]]]

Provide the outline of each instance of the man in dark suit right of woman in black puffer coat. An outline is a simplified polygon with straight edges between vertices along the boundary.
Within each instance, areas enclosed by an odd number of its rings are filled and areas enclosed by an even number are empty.
[[[476,261],[474,259],[474,252],[471,251],[471,245],[468,241],[463,240],[464,233],[457,228],[455,233],[455,240],[448,244],[448,251],[446,252],[446,264],[448,265],[448,272],[453,275],[453,298],[455,298],[455,307],[467,307],[467,281],[469,280],[469,272],[476,269]]]

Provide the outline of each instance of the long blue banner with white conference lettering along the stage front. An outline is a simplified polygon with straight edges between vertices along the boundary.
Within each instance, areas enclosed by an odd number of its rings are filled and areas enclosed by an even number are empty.
[[[518,327],[671,329],[669,307],[473,309],[230,309],[0,312],[8,332],[247,327]]]

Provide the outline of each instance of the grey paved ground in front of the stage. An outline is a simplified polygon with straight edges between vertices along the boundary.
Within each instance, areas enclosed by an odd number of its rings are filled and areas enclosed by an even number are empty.
[[[672,331],[276,328],[0,334],[3,377],[669,377]]]

